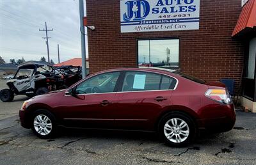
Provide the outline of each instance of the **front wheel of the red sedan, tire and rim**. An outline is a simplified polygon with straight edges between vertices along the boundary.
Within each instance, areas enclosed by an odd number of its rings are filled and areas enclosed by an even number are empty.
[[[56,134],[56,119],[52,113],[40,109],[33,113],[31,128],[38,138],[49,139]]]

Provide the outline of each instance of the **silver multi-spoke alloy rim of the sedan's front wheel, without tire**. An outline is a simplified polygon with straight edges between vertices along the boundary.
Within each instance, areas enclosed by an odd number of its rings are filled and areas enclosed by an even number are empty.
[[[52,122],[44,114],[38,114],[34,120],[34,128],[38,134],[45,136],[51,133]]]

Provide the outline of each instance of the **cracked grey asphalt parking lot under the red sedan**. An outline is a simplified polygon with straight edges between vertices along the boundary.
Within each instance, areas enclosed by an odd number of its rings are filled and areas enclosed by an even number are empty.
[[[38,139],[19,123],[19,108],[26,99],[0,102],[0,164],[256,164],[253,113],[237,111],[231,131],[171,148],[146,132],[61,129],[58,138]]]

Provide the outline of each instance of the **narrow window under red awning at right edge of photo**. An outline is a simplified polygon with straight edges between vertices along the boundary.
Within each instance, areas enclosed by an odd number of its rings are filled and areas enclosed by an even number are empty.
[[[254,79],[255,75],[256,38],[250,41],[247,78]]]

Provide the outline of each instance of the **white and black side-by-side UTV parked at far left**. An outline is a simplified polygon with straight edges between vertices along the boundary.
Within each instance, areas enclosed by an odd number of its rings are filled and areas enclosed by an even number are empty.
[[[6,82],[9,89],[0,91],[3,102],[10,102],[14,95],[34,97],[49,91],[67,88],[63,74],[50,65],[28,64],[18,67],[13,79]]]

